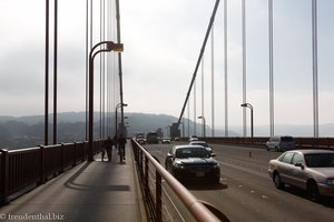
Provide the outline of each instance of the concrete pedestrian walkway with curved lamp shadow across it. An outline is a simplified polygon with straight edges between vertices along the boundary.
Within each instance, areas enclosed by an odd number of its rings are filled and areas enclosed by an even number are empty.
[[[146,221],[130,143],[125,163],[116,150],[95,158],[0,208],[0,221]]]

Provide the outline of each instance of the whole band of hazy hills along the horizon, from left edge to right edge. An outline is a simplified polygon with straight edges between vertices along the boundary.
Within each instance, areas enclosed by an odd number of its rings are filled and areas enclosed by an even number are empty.
[[[110,118],[110,119],[107,119]],[[167,114],[148,114],[148,113],[125,113],[125,122],[128,123],[128,135],[135,133],[147,133],[149,131],[160,130],[165,135],[169,135],[168,127],[177,122],[177,118]],[[95,138],[99,138],[99,121],[98,112],[94,115],[95,119]],[[86,112],[63,112],[58,113],[58,142],[82,141],[86,139]],[[43,115],[29,117],[9,117],[0,115],[0,148],[27,148],[43,143],[45,130]],[[49,115],[49,138],[52,138],[52,114]],[[115,115],[106,114],[105,125],[110,125],[110,132],[115,132]],[[248,127],[247,127],[248,128]],[[180,125],[183,129],[183,125]],[[188,120],[185,120],[185,137],[194,134],[194,122],[189,121],[190,133],[187,132]],[[203,127],[196,125],[196,134],[202,135]],[[215,137],[224,137],[224,127],[216,127]],[[240,125],[228,127],[229,137],[242,137],[243,130]],[[249,129],[247,129],[248,131]],[[106,130],[107,131],[107,130]],[[206,127],[206,135],[210,137],[212,129]],[[268,137],[268,125],[255,125],[255,137]],[[276,124],[275,134],[288,134],[293,137],[312,137],[312,125],[293,125],[293,124]],[[334,137],[334,123],[320,125],[321,137]],[[183,134],[181,134],[183,135]],[[249,137],[249,131],[247,132]]]

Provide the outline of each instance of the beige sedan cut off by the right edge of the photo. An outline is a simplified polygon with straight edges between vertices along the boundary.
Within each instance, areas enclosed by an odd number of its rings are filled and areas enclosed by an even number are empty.
[[[312,201],[334,196],[334,151],[286,151],[269,161],[268,173],[277,189],[285,184],[301,188]]]

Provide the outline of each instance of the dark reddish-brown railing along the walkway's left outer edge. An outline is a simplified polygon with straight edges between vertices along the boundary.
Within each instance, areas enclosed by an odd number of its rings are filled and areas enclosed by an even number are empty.
[[[94,142],[94,153],[100,142]],[[0,205],[87,160],[87,153],[88,142],[0,149]]]

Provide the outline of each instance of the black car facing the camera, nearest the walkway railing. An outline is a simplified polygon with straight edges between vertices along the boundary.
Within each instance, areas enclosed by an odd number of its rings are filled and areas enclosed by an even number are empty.
[[[219,183],[220,167],[213,155],[202,145],[174,145],[166,157],[165,168],[180,182]]]

